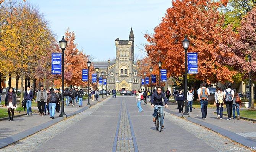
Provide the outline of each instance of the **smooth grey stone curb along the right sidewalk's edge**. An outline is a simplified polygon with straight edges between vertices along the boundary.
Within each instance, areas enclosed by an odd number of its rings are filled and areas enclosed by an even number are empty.
[[[183,117],[182,114],[177,114],[175,112],[172,112],[170,111],[169,109],[166,109],[164,108],[164,111],[166,112],[169,112],[170,114],[173,114],[175,116],[178,116],[178,117]],[[228,130],[225,130],[224,128],[220,128],[216,125],[212,125],[211,123],[207,123],[207,122],[203,122],[203,121],[200,121],[200,120],[197,120],[195,118],[192,118],[192,117],[188,117],[189,115],[185,115],[186,116],[186,120],[190,121],[190,122],[193,122],[193,123],[196,123],[198,125],[201,125],[203,127],[206,127],[206,128],[209,128],[211,129],[212,131],[216,132],[216,133],[219,133],[235,142],[238,142],[244,146],[248,146],[248,147],[255,147],[255,141],[253,141],[252,139],[250,138],[245,138],[243,136],[240,136],[236,133],[233,133],[231,131],[228,131]]]

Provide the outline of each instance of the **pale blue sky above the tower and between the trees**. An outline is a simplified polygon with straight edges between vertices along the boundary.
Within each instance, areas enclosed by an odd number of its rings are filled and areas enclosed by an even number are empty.
[[[146,56],[145,33],[153,33],[171,0],[27,0],[39,8],[49,27],[62,39],[67,28],[75,32],[78,49],[92,61],[115,58],[115,39],[134,33],[134,58]]]

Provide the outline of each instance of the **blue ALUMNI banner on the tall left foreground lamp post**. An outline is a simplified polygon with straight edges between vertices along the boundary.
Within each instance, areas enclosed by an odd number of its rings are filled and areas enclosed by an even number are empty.
[[[52,74],[62,73],[62,53],[52,53]]]

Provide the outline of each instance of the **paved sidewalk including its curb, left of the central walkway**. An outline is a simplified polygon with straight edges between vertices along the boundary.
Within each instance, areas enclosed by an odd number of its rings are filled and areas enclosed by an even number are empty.
[[[106,97],[104,97],[106,99]],[[103,100],[104,100],[103,99]],[[99,102],[102,98],[98,98]],[[97,101],[91,101],[90,104],[95,105]],[[87,99],[83,100],[83,106],[79,107],[76,104],[75,107],[65,106],[64,112],[67,117],[71,117],[78,114],[86,109],[90,108],[87,106]],[[37,109],[38,110],[38,109]],[[61,111],[61,110],[60,110]],[[32,116],[21,116],[13,119],[13,122],[3,120],[0,123],[0,148],[7,146],[13,142],[37,133],[40,130],[50,127],[51,125],[62,121],[65,118],[58,117],[60,113],[55,112],[55,119],[51,119],[50,115],[39,116],[39,113],[33,113]]]

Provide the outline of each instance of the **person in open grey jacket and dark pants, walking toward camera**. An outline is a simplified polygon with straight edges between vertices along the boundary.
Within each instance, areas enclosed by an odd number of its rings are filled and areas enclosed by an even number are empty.
[[[40,90],[37,92],[36,102],[37,102],[37,107],[39,109],[40,115],[44,116],[44,106],[45,106],[45,103],[47,102],[47,93],[43,85],[40,86]]]

